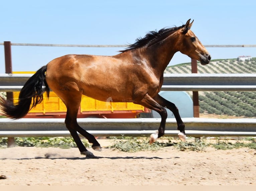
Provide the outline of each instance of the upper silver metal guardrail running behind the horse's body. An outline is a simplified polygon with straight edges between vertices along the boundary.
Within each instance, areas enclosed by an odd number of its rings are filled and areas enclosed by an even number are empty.
[[[0,91],[20,91],[32,74],[0,74]],[[164,74],[162,91],[256,91],[256,74]]]

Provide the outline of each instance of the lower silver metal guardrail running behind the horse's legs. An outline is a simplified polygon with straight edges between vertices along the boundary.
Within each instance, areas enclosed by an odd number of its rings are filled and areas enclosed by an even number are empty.
[[[0,137],[70,136],[64,121],[58,118],[0,118]],[[158,129],[160,121],[160,118],[78,119],[78,123],[95,136],[148,136]],[[187,136],[256,136],[256,118],[183,118],[183,121]],[[165,129],[165,136],[176,136],[176,120],[167,118]]]

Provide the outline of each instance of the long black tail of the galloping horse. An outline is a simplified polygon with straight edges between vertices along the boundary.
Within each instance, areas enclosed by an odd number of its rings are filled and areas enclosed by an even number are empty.
[[[43,100],[45,91],[49,97],[50,90],[45,81],[45,72],[46,66],[43,66],[28,79],[20,91],[18,103],[13,104],[11,100],[5,100],[1,97],[0,107],[4,115],[13,119],[24,117],[28,111]]]

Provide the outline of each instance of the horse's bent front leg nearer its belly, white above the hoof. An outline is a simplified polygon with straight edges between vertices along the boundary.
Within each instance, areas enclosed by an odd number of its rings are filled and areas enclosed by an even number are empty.
[[[144,107],[147,107],[149,109],[153,109],[156,112],[158,112],[161,116],[161,122],[160,126],[158,128],[158,131],[150,135],[149,143],[153,143],[156,141],[157,138],[161,137],[164,135],[164,130],[165,130],[165,122],[167,118],[167,112],[166,109],[157,103],[151,96],[146,94],[140,101],[136,102],[137,104],[141,104]]]

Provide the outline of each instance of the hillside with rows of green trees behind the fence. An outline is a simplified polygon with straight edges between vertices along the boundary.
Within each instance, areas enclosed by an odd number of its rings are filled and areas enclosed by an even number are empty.
[[[191,73],[191,64],[167,67],[165,73]],[[256,73],[256,58],[242,62],[237,59],[213,60],[206,66],[198,63],[198,73]],[[200,92],[199,100],[200,113],[256,117],[256,92]]]

